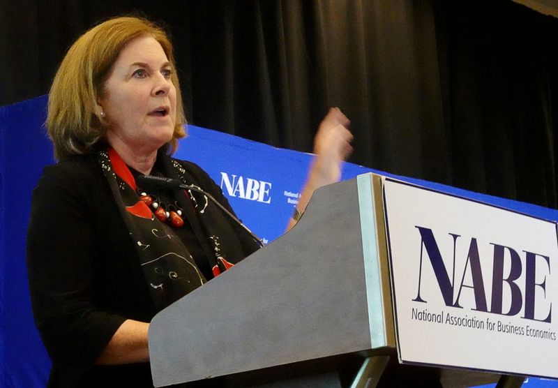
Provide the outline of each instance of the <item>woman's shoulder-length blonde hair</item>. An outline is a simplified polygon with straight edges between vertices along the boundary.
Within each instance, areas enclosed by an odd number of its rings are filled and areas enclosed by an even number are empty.
[[[56,72],[48,99],[47,132],[54,143],[54,157],[91,154],[104,144],[107,125],[98,117],[98,99],[121,50],[131,40],[152,36],[163,47],[172,68],[176,68],[170,40],[160,27],[141,17],[116,17],[93,27],[70,47]],[[184,137],[186,123],[176,71],[176,125],[172,140],[165,144],[171,153]]]

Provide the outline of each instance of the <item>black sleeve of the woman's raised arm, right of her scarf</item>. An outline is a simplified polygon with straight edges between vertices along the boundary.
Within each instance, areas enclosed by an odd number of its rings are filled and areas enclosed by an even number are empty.
[[[225,195],[223,194],[223,190],[221,190],[218,184],[216,184],[216,182],[213,181],[211,177],[209,177],[209,174],[207,174],[207,172],[205,172],[202,167],[199,167],[199,165],[191,162],[182,161],[182,163],[185,165],[188,171],[192,172],[195,179],[200,182],[200,186],[202,186],[205,191],[213,195],[213,197],[220,204],[222,204],[228,211],[230,211],[236,218],[238,218],[238,216],[236,216],[236,213],[234,212],[234,209],[232,209],[231,205],[229,204],[227,197],[225,197]],[[248,234],[248,232],[246,232],[246,230],[244,230],[240,225],[237,225],[234,221],[231,221],[230,225],[232,225],[232,227],[236,231],[236,236],[239,239],[245,257],[251,255],[260,248],[259,244],[257,244],[252,236],[250,236],[250,234]]]

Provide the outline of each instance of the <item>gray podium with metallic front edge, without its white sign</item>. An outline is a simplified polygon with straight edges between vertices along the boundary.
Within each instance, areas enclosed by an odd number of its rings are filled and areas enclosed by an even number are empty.
[[[158,313],[154,385],[374,387],[401,350],[383,180],[320,188],[292,230]]]

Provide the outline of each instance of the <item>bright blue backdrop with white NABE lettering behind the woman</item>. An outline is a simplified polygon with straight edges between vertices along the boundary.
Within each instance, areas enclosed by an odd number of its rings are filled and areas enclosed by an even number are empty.
[[[52,146],[43,126],[46,103],[47,98],[43,96],[0,107],[0,387],[44,387],[50,370],[50,361],[33,324],[25,267],[31,191],[43,167],[54,163]],[[209,172],[229,197],[239,218],[264,241],[280,236],[306,179],[312,155],[196,126],[189,126],[188,133],[181,140],[176,157],[193,161]],[[377,171],[345,163],[343,179],[365,172]],[[539,218],[558,220],[556,210],[418,179],[398,178]],[[558,387],[557,382],[539,379],[530,379],[526,385]]]

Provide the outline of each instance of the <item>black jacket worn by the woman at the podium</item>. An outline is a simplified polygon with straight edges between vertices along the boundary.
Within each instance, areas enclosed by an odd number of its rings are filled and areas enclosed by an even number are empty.
[[[206,172],[181,164],[230,209]],[[257,249],[227,216],[219,224],[236,239],[222,243],[240,246],[240,260]],[[124,320],[149,322],[157,313],[96,156],[45,167],[33,191],[27,267],[35,321],[53,364],[50,387],[152,387],[149,364],[93,365]]]

